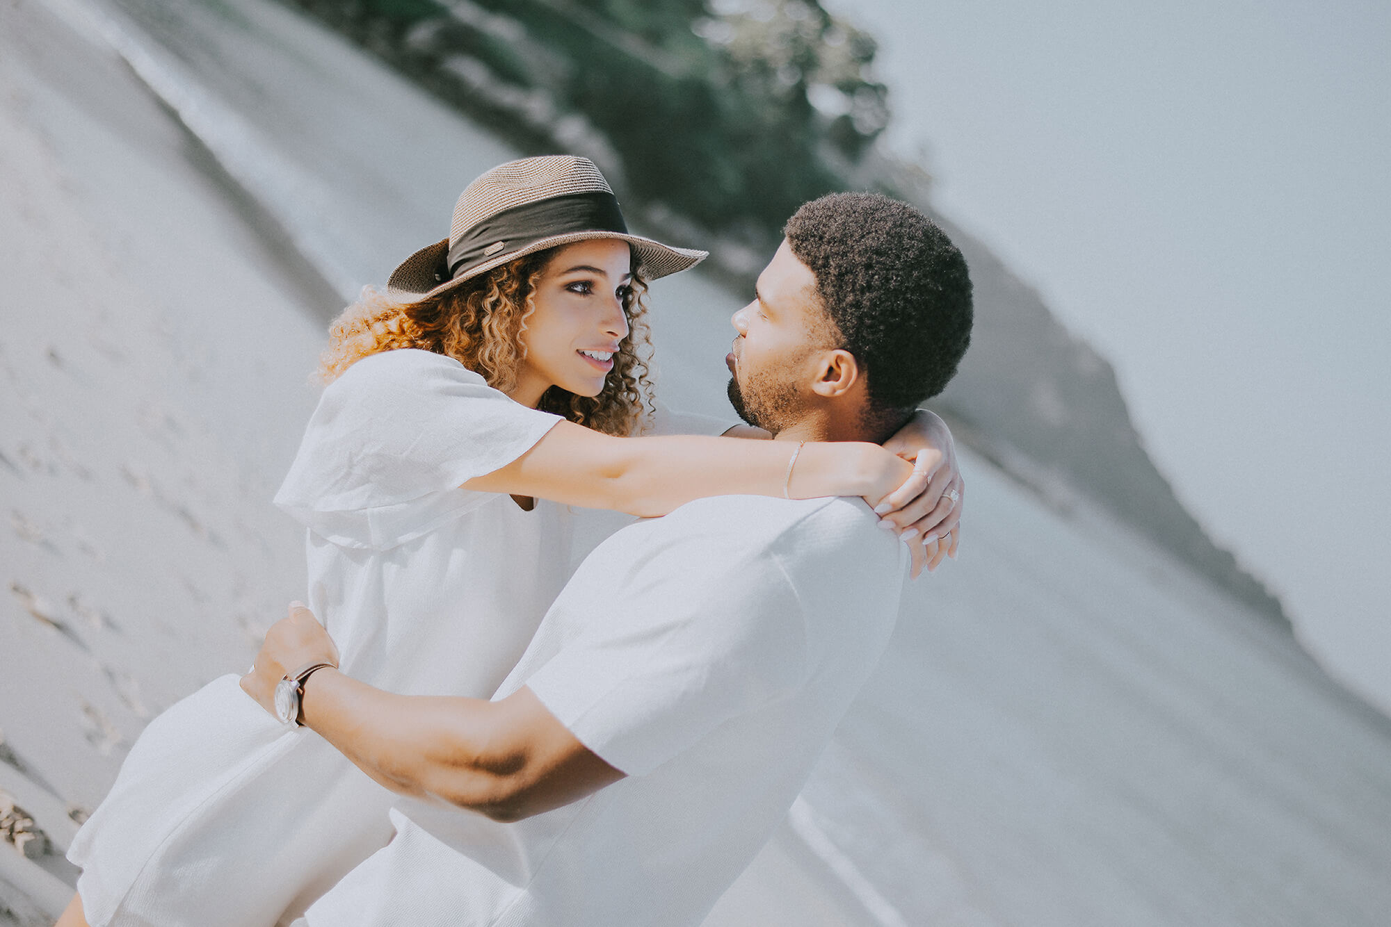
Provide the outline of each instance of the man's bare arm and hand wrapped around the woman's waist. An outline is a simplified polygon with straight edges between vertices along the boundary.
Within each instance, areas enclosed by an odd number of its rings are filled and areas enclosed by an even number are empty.
[[[274,713],[287,667],[337,663],[328,632],[303,606],[266,634],[242,688]],[[381,785],[402,795],[515,821],[623,778],[565,728],[530,689],[501,702],[394,695],[337,668],[305,682],[300,717]]]

